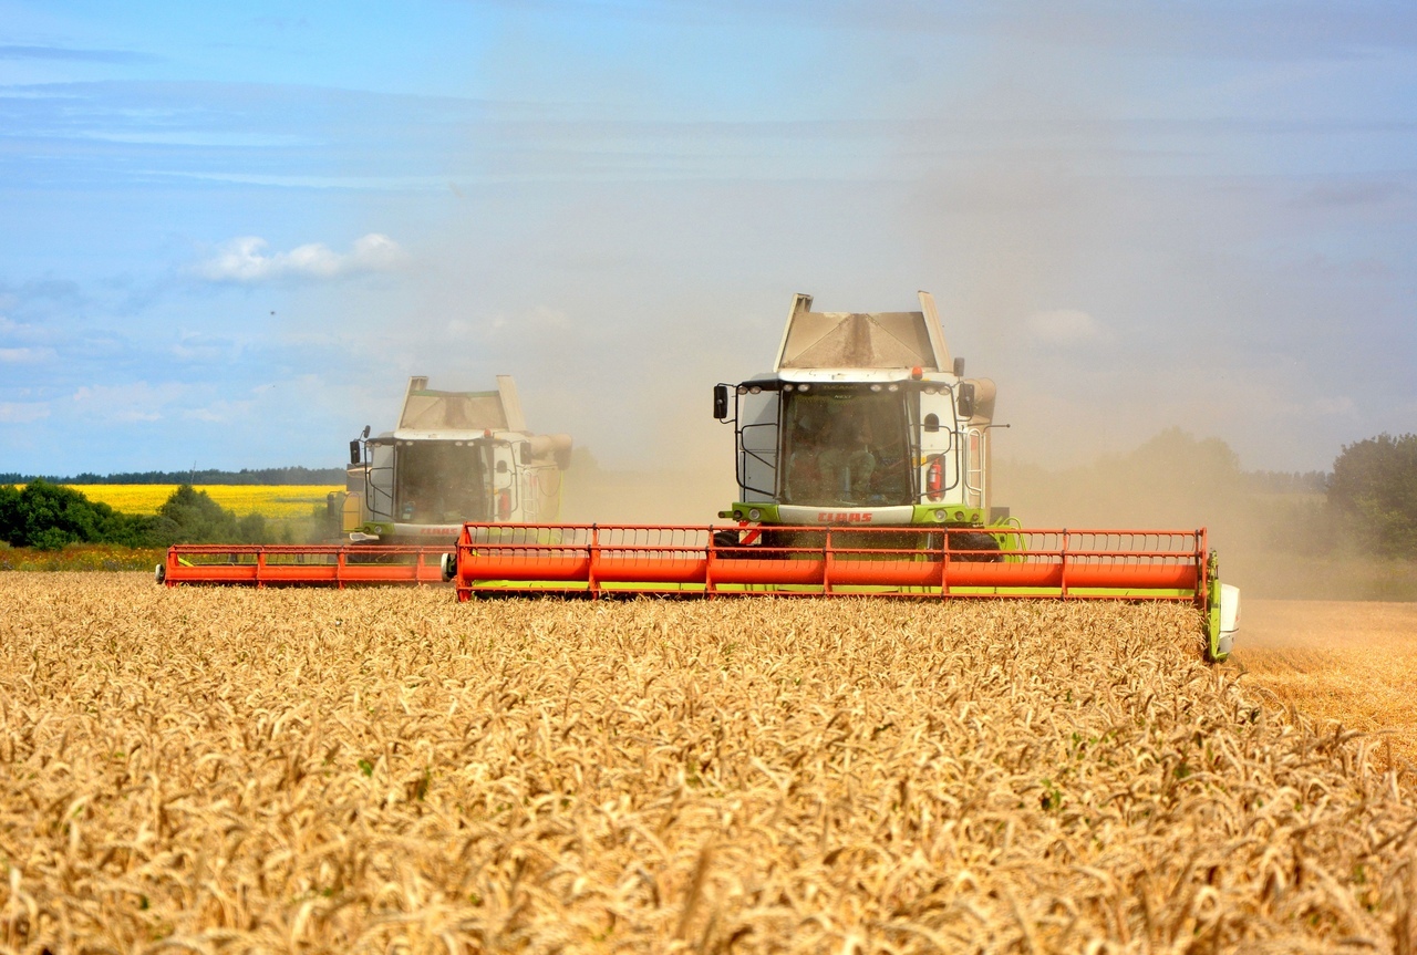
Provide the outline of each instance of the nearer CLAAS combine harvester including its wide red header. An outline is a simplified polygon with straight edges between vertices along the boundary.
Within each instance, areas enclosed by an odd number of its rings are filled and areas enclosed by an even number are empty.
[[[1029,530],[993,506],[995,385],[966,378],[934,299],[920,312],[813,312],[799,295],[772,371],[720,384],[738,500],[723,524],[468,523],[459,599],[877,595],[1183,601],[1223,660],[1240,592],[1206,531]]]

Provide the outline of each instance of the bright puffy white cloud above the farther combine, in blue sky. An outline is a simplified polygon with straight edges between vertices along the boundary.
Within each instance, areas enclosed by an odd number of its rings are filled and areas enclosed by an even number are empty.
[[[361,272],[387,272],[408,261],[398,242],[370,232],[349,252],[336,252],[324,242],[298,245],[289,252],[268,252],[269,244],[258,235],[242,235],[225,242],[217,254],[198,262],[196,273],[210,282],[269,282],[275,279],[333,279]]]

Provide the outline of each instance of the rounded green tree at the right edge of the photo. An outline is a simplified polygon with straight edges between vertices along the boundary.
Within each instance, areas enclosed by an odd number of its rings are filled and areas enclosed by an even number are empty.
[[[1328,503],[1365,548],[1417,557],[1417,435],[1382,434],[1345,445]]]

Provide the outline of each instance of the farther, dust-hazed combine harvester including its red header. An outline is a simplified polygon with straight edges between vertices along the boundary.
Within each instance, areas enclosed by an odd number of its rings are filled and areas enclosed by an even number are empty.
[[[332,495],[346,543],[179,544],[159,582],[439,584],[468,521],[554,521],[568,435],[527,431],[510,375],[496,391],[435,391],[412,377],[394,431],[350,442],[346,487]]]

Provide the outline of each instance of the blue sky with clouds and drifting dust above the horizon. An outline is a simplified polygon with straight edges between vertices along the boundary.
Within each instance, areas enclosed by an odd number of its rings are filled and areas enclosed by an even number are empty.
[[[340,466],[410,375],[733,472],[711,385],[935,295],[996,455],[1417,431],[1417,9],[0,0],[0,472]]]

